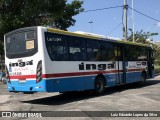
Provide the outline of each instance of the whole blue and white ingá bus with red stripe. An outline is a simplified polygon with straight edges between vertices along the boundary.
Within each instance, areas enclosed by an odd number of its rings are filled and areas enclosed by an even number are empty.
[[[146,82],[154,77],[148,45],[47,27],[4,36],[7,86],[11,92],[67,92]]]

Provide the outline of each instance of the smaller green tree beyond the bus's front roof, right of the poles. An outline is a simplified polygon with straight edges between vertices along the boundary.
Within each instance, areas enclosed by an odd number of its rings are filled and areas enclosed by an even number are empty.
[[[128,40],[132,42],[133,41],[133,30],[129,29],[129,31],[131,32],[131,35],[128,37]],[[158,35],[158,33],[143,32],[143,30],[136,31],[134,33],[135,42],[143,43],[143,44],[150,44],[149,41],[147,41],[147,39],[155,35]]]

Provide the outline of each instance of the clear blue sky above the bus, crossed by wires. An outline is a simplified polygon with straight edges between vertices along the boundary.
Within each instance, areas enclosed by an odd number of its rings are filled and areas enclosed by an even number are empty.
[[[73,0],[68,0],[71,2]],[[83,0],[84,11],[123,6],[124,0]],[[132,0],[127,0],[127,4],[132,7]],[[160,0],[134,0],[134,9],[160,21]],[[74,19],[74,26],[68,28],[69,31],[84,31],[105,36],[123,38],[123,7],[114,9],[97,10],[93,12],[83,12]],[[147,18],[134,12],[135,31],[158,33],[151,37],[154,42],[160,41],[160,22]],[[92,23],[89,23],[91,22]],[[132,28],[132,10],[127,12],[127,26]],[[128,31],[128,34],[130,32]]]

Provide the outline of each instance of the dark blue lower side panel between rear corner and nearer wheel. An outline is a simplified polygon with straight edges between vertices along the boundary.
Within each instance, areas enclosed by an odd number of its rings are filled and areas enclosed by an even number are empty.
[[[70,77],[46,80],[47,92],[84,91],[94,88],[95,76]]]

